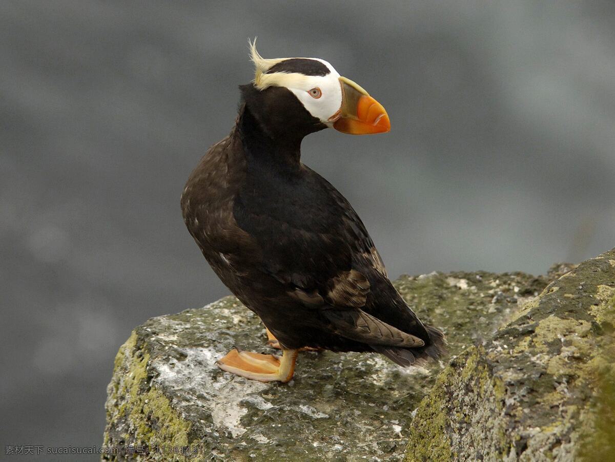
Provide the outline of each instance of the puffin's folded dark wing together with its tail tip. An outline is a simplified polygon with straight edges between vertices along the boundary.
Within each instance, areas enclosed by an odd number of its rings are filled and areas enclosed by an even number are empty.
[[[320,308],[336,334],[403,366],[442,352],[442,333],[429,326],[428,333],[389,281],[357,213],[314,171],[256,176],[236,198],[234,216],[262,251],[258,268]]]

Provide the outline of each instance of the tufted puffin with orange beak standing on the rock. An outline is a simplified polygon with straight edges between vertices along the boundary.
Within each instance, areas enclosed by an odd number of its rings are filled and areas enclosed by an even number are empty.
[[[264,59],[241,85],[231,133],[192,171],[181,211],[216,275],[263,321],[282,356],[235,348],[216,362],[261,382],[288,382],[301,348],[384,354],[410,366],[444,350],[387,277],[350,203],[301,163],[304,136],[389,131],[383,106],[319,58]]]

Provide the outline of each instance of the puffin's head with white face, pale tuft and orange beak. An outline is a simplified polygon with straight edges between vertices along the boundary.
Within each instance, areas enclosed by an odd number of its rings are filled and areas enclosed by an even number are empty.
[[[288,130],[301,130],[301,123],[316,131],[333,127],[343,133],[368,135],[391,130],[382,104],[362,87],[339,75],[319,58],[265,59],[250,44],[255,65],[252,97],[263,117],[284,122]],[[299,104],[298,104],[299,103]],[[306,112],[307,111],[307,112]],[[300,113],[300,114],[298,114]],[[292,119],[292,120],[289,120]]]

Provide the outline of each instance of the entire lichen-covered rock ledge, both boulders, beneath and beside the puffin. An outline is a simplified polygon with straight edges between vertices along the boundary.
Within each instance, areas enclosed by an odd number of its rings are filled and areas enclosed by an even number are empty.
[[[214,364],[234,345],[271,352],[234,297],[149,319],[116,357],[105,446],[119,453],[103,460],[572,460],[577,447],[604,460],[615,253],[560,278],[570,269],[402,276],[449,341],[429,369],[304,352],[292,382],[263,384]]]

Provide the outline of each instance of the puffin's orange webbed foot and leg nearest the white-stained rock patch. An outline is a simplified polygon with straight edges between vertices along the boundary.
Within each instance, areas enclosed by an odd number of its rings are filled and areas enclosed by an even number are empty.
[[[233,348],[216,361],[220,369],[260,382],[288,382],[295,373],[298,350],[282,350],[282,358],[272,354],[238,351]]]

